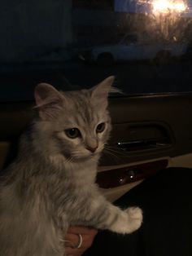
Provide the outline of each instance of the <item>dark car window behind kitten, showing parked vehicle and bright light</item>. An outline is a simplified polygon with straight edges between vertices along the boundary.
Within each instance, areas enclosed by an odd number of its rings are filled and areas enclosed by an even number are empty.
[[[2,2],[0,101],[33,99],[39,82],[78,90],[110,75],[128,95],[191,91],[191,13],[191,0]]]

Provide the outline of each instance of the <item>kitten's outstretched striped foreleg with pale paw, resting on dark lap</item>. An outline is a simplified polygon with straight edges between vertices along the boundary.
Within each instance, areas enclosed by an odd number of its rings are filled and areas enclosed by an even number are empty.
[[[139,207],[120,210],[119,207],[99,197],[89,202],[85,218],[89,220],[90,226],[126,234],[136,231],[142,225],[142,210]]]

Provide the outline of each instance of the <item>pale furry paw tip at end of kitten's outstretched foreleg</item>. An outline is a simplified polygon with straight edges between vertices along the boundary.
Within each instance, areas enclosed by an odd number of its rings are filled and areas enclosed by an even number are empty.
[[[129,207],[125,212],[129,218],[129,232],[136,231],[142,225],[142,210],[139,207]]]

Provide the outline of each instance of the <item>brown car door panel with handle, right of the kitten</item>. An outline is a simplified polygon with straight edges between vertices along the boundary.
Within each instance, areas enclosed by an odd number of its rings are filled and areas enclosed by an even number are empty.
[[[154,163],[151,174],[166,166],[192,167],[191,96],[166,94],[113,99],[110,108],[113,130],[109,142],[113,157],[104,155],[102,165],[137,170],[135,164],[140,163],[148,171],[147,165]],[[159,168],[159,162],[166,161],[167,164]],[[107,196],[115,200],[116,196],[124,193],[125,188],[133,188],[133,182],[139,176],[136,173],[127,185],[120,184],[124,177],[118,176],[116,184],[119,182],[117,187],[122,186],[122,189],[111,186],[111,193],[108,191]],[[143,177],[140,176],[141,179],[146,177],[145,173]],[[117,194],[114,192],[116,190]]]

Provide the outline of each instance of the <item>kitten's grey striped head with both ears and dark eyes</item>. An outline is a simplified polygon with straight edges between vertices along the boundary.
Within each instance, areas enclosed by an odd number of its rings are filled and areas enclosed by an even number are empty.
[[[68,161],[98,157],[111,130],[107,97],[113,82],[107,77],[92,89],[66,92],[39,84],[35,99],[43,151]]]

